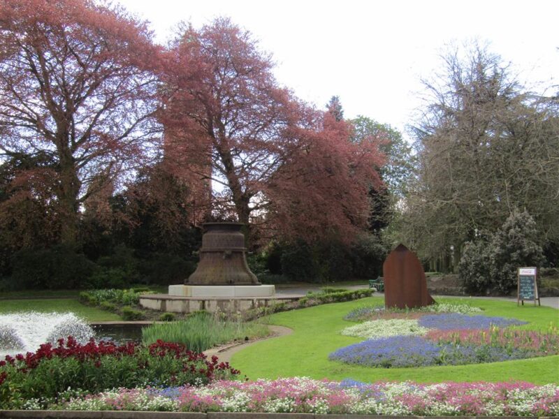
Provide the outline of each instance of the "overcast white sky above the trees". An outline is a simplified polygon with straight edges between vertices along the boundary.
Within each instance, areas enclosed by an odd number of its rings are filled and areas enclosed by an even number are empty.
[[[559,90],[558,0],[117,0],[152,22],[164,43],[180,20],[194,27],[228,16],[273,53],[277,80],[344,117],[365,115],[400,131],[421,105],[420,79],[449,43],[477,38],[510,61],[531,89]]]

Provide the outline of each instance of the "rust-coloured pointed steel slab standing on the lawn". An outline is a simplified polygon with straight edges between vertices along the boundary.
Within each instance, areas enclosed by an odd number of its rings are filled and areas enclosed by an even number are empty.
[[[400,244],[384,260],[384,305],[409,309],[434,304],[427,291],[427,279],[414,252]]]

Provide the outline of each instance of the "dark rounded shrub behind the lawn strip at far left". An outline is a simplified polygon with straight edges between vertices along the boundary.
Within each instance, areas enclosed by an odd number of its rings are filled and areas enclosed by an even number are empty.
[[[82,288],[96,270],[83,254],[66,246],[23,249],[12,257],[11,280],[18,288]]]

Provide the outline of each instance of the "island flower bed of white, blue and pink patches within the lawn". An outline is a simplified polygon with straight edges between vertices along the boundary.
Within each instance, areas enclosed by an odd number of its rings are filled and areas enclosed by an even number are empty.
[[[556,329],[535,332],[497,327],[521,324],[525,322],[514,318],[458,313],[365,321],[345,328],[342,335],[368,340],[340,348],[328,359],[367,367],[401,368],[500,362],[559,353]]]

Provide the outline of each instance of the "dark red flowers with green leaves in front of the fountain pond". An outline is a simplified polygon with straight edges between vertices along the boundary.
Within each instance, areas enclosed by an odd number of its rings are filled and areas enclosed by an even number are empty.
[[[57,347],[43,344],[36,353],[0,361],[0,409],[21,409],[29,399],[55,399],[77,385],[86,392],[136,386],[208,383],[239,372],[217,357],[178,344],[157,341],[150,346],[110,342],[80,345],[68,337]]]

